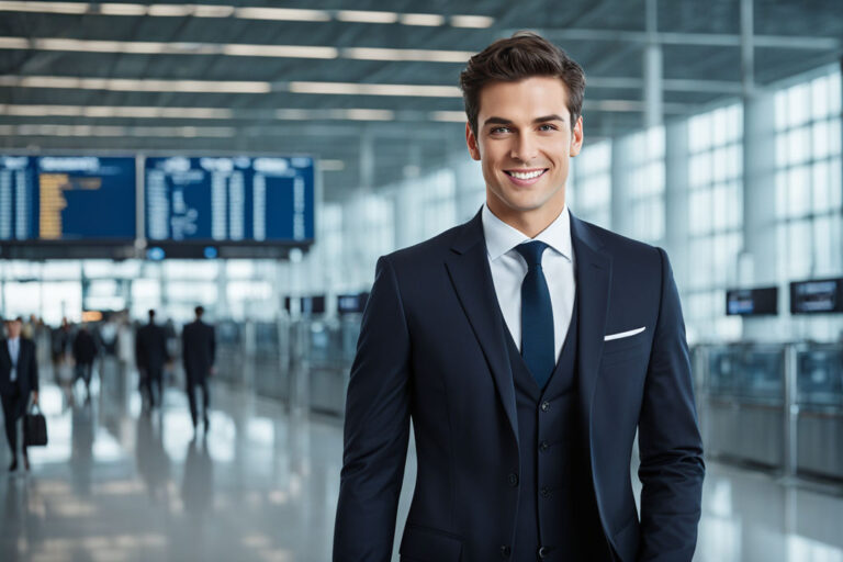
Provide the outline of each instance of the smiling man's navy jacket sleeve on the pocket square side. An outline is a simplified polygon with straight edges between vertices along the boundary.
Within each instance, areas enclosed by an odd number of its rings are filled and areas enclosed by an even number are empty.
[[[662,291],[639,418],[641,536],[638,560],[690,562],[705,464],[688,345],[667,255],[659,249]]]

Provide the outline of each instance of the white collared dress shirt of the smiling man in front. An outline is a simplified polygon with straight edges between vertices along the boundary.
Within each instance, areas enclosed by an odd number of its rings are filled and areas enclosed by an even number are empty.
[[[574,277],[574,252],[571,246],[571,215],[567,205],[550,226],[535,238],[509,226],[483,205],[483,235],[486,238],[488,266],[497,294],[497,303],[504,314],[506,327],[515,345],[521,349],[521,282],[527,276],[527,261],[515,250],[525,241],[541,240],[548,246],[541,256],[541,269],[550,291],[553,307],[553,345],[559,358],[562,345],[571,325],[574,312],[576,280]]]

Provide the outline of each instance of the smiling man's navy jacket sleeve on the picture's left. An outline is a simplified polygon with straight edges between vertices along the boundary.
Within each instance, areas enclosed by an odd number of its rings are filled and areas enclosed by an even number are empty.
[[[378,261],[346,398],[334,562],[389,562],[409,436],[409,333],[389,258]]]

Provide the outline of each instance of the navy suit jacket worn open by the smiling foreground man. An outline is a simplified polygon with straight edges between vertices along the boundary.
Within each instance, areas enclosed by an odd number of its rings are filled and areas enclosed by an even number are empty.
[[[690,561],[705,468],[667,256],[573,215],[571,234],[587,443],[580,453],[603,531],[623,562]],[[501,560],[518,495],[532,493],[510,485],[519,443],[505,334],[480,213],[379,260],[348,387],[335,562],[390,560],[411,417],[418,475],[402,560]],[[640,518],[630,479],[636,430]]]

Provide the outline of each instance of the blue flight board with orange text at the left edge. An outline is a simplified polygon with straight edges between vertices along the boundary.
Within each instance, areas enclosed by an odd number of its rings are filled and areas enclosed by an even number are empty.
[[[131,243],[135,158],[0,157],[0,243]]]

